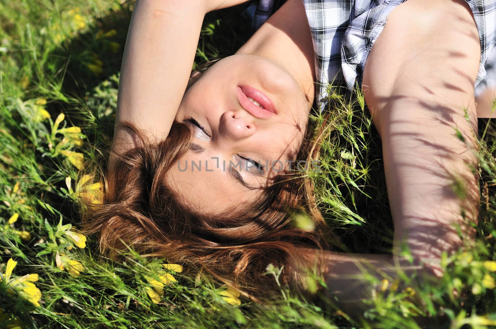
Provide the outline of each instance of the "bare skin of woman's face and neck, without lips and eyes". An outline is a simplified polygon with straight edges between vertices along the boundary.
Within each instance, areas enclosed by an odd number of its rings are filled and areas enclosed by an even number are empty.
[[[303,4],[292,1],[235,55],[215,63],[188,90],[176,120],[190,126],[196,145],[168,172],[167,184],[184,203],[207,213],[260,200],[264,187],[282,172],[276,172],[281,169],[279,163],[271,164],[281,161],[288,168],[292,165],[288,161],[295,160],[302,144],[313,103],[314,74]],[[251,86],[270,98],[276,114],[258,118],[245,110],[238,100],[240,85]],[[187,121],[191,117],[210,136]],[[247,161],[240,156],[269,165],[258,172],[251,164],[247,168]],[[187,169],[181,171],[186,161]],[[192,169],[191,161],[201,162],[201,170]],[[246,184],[229,174],[231,161],[243,164],[241,170],[240,166],[234,170]],[[206,171],[205,162],[212,171]]]

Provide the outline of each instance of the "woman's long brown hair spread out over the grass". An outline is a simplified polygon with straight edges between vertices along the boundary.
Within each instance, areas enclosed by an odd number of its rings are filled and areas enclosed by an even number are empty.
[[[275,286],[272,278],[262,275],[268,264],[285,266],[283,282],[301,283],[295,265],[305,262],[301,248],[322,248],[327,231],[321,217],[313,231],[292,221],[294,214],[310,211],[303,175],[280,174],[264,190],[262,200],[243,209],[202,213],[181,203],[164,179],[190,147],[189,128],[174,122],[165,140],[151,141],[133,124],[122,126],[137,138],[139,147],[113,154],[116,161],[104,177],[103,204],[82,207],[82,230],[97,235],[102,254],[118,258],[130,245],[186,268],[201,266],[255,295]],[[310,149],[306,138],[299,159],[307,159]]]

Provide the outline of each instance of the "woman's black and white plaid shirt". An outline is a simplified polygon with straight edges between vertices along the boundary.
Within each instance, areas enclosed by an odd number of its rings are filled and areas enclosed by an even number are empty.
[[[260,0],[262,19],[270,16],[270,3]],[[384,28],[389,13],[406,0],[303,0],[315,52],[315,101],[325,107],[328,85],[344,83],[349,90],[362,85],[365,62]],[[496,0],[466,0],[481,41],[481,58],[475,83],[478,95],[496,86]],[[262,8],[270,8],[264,11]],[[255,15],[256,18],[256,15]],[[257,25],[263,21],[258,20]],[[489,60],[488,60],[489,59]]]

